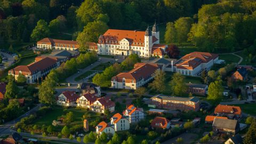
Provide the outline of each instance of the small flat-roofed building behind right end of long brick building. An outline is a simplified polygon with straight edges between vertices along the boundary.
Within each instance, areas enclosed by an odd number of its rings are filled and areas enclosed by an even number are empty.
[[[188,93],[197,94],[197,95],[205,95],[208,89],[208,85],[206,84],[187,84],[188,85]]]

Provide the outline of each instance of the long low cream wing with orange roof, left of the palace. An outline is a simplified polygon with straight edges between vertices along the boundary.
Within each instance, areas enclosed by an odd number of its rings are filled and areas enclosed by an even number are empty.
[[[74,51],[79,49],[79,44],[76,41],[66,41],[60,39],[43,38],[37,42],[38,49],[48,50],[69,50]]]

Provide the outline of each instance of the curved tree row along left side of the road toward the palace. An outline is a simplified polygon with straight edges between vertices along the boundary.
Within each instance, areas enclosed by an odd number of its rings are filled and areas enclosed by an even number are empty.
[[[95,51],[79,54],[77,58],[71,58],[62,63],[57,69],[52,69],[46,76],[45,81],[39,86],[39,102],[53,105],[55,103],[54,86],[65,81],[65,79],[76,73],[78,68],[84,68],[97,61],[98,55]]]

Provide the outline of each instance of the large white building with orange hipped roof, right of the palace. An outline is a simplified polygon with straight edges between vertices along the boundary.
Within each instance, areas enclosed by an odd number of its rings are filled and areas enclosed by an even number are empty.
[[[202,71],[209,71],[219,55],[208,52],[191,52],[172,65],[172,72],[188,76],[199,76]]]

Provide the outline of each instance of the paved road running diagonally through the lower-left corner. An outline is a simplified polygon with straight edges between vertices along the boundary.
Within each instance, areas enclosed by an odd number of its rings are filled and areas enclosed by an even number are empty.
[[[4,125],[1,125],[1,126],[0,126],[0,135],[2,135],[2,134],[10,134],[10,132],[11,132],[11,131],[10,131],[10,130],[11,130],[10,128],[11,128],[12,126],[14,126],[17,122],[19,122],[21,118],[33,114],[33,113],[34,113],[35,111],[37,111],[41,106],[42,106],[42,104],[40,103],[40,104],[38,104],[36,107],[34,107],[33,109],[30,109],[29,111],[27,111],[27,113],[25,113],[25,114],[21,115],[20,117],[14,119],[13,121],[10,121],[10,122],[5,123]]]

